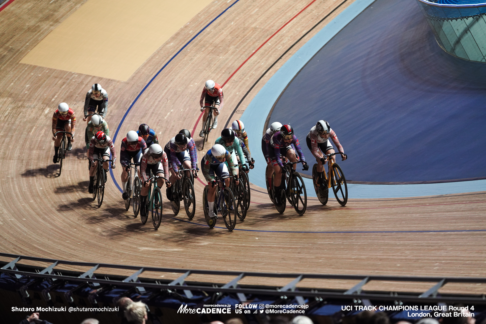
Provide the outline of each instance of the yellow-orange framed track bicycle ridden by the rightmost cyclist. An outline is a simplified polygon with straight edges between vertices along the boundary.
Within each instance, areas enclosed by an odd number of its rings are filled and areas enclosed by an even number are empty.
[[[317,184],[317,163],[314,164],[314,166],[312,167],[312,183],[314,185],[314,190],[317,194],[317,198],[322,205],[326,205],[328,203],[329,188],[331,187],[339,205],[344,206],[347,204],[346,178],[344,177],[344,173],[341,170],[341,167],[337,163],[332,163],[331,159],[331,156],[336,154],[341,153],[337,152],[324,155],[324,158],[328,159],[328,173],[326,175],[326,172],[324,172],[323,179],[326,182],[327,186],[325,186],[324,189],[321,188],[320,184]]]

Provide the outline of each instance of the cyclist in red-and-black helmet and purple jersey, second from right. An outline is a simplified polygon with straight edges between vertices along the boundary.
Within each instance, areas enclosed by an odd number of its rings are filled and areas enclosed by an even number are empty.
[[[291,147],[291,144],[295,145],[297,149],[297,153],[302,160],[302,166],[304,170],[309,170],[309,165],[305,161],[304,153],[302,153],[302,149],[299,145],[299,140],[297,136],[294,135],[294,129],[290,125],[282,125],[280,131],[275,133],[270,138],[270,143],[268,144],[268,156],[272,160],[272,164],[275,171],[275,190],[277,192],[282,189],[282,168],[283,163],[280,159],[280,155],[287,157],[291,162],[297,161],[297,154],[295,153],[294,149]],[[297,168],[294,165],[294,170]],[[275,196],[276,203],[280,204],[280,195]]]

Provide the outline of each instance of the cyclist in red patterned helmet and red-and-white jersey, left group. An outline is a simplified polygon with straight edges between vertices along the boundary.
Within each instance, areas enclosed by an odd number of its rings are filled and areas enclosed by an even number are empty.
[[[101,155],[102,159],[108,160],[110,158],[110,154],[106,151],[110,149],[111,152],[111,169],[115,169],[115,161],[117,160],[117,152],[115,151],[115,145],[109,136],[103,133],[103,131],[97,132],[93,137],[91,137],[91,141],[89,142],[89,149],[88,149],[88,159],[91,165],[89,169],[89,187],[88,192],[93,193],[93,182],[94,182],[94,174],[96,172],[96,168],[98,167],[98,157]],[[106,182],[106,172],[108,172],[108,161],[103,162],[103,169],[104,169],[104,182]]]

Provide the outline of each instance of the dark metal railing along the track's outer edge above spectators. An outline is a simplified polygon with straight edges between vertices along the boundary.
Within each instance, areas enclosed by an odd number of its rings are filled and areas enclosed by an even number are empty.
[[[39,283],[39,278],[47,280],[51,283],[55,282],[56,287],[60,287],[62,283],[69,283],[71,286],[88,284],[93,291],[107,291],[113,287],[126,287],[134,289],[141,295],[154,294],[164,291],[172,292],[179,290],[180,296],[186,300],[200,298],[195,294],[208,296],[208,292],[212,292],[221,298],[223,295],[237,296],[241,303],[251,302],[248,300],[249,295],[253,296],[271,296],[273,299],[288,300],[288,296],[295,297],[295,303],[305,304],[305,298],[308,300],[315,299],[322,301],[323,299],[337,300],[340,303],[361,303],[361,300],[369,303],[370,301],[389,302],[391,305],[398,305],[403,302],[416,303],[456,303],[463,302],[476,305],[486,305],[486,297],[474,294],[444,294],[439,293],[439,289],[446,283],[486,283],[486,278],[474,277],[413,277],[413,276],[383,276],[383,275],[339,275],[339,274],[312,274],[312,273],[253,273],[253,272],[234,272],[234,271],[209,271],[209,270],[191,270],[191,269],[172,269],[172,268],[155,268],[155,267],[139,267],[116,265],[106,263],[92,263],[92,262],[77,262],[56,260],[32,256],[20,256],[14,254],[0,253],[0,256],[12,258],[10,262],[2,262],[4,264],[0,268],[0,275],[4,277],[3,273],[8,274],[14,281],[23,279],[23,286],[20,288],[20,293],[23,297],[28,297],[27,290],[31,289],[29,286],[33,282]],[[30,260],[51,263],[48,267],[37,267],[21,265],[19,261]],[[0,265],[1,265],[0,264]],[[57,270],[56,267],[61,265],[69,265],[72,267],[90,267],[88,271],[68,271]],[[103,273],[100,270],[103,269]],[[106,274],[110,269],[124,269],[132,270],[133,273],[129,276],[120,276],[116,274]],[[141,274],[144,272],[159,273],[180,273],[181,275],[175,280],[161,280],[160,276],[157,278],[144,278]],[[216,283],[214,281],[199,281],[190,282],[188,277],[191,274],[199,275],[214,275],[220,276],[234,276],[232,280],[226,283]],[[263,278],[290,278],[290,281],[282,286],[257,286],[257,285],[240,285],[244,277],[263,277]],[[26,280],[27,279],[27,280]],[[223,279],[223,278],[222,278]],[[347,290],[326,289],[325,287],[313,288],[297,288],[297,284],[303,279],[333,279],[333,280],[360,280],[358,284]],[[365,291],[364,285],[373,280],[390,281],[390,282],[431,282],[432,287],[422,293],[415,292],[397,292],[390,290],[383,291]],[[73,288],[75,291],[78,288]],[[149,291],[150,290],[150,291]],[[467,289],[466,289],[467,290]],[[201,293],[202,292],[202,293]],[[49,289],[43,290],[43,295],[48,296]],[[194,295],[193,295],[194,293]],[[69,294],[68,294],[69,295]],[[216,298],[216,300],[218,299]],[[49,299],[45,297],[44,299]],[[96,303],[96,297],[91,298],[93,303]],[[290,301],[290,299],[288,300]],[[400,304],[401,305],[401,304]]]

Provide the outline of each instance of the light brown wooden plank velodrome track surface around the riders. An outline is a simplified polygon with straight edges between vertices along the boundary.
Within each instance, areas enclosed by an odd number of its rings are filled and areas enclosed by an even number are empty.
[[[407,232],[485,229],[485,192],[350,200],[346,207],[339,206],[334,199],[322,206],[315,198],[310,198],[307,212],[299,217],[290,207],[284,214],[278,214],[265,190],[254,186],[254,203],[246,220],[238,222],[236,228],[257,232],[228,232],[203,226],[203,185],[199,182],[195,183],[199,208],[193,220],[197,224],[181,222],[187,218],[182,214],[174,217],[166,204],[158,231],[150,222],[142,225],[139,218],[133,217],[131,209],[124,210],[121,193],[111,178],[103,206],[97,208],[87,192],[87,158],[82,136],[85,123],[79,121],[73,150],[65,160],[63,174],[56,177],[57,165],[52,164],[52,111],[59,102],[68,102],[80,119],[87,89],[93,83],[100,83],[110,95],[107,121],[114,133],[129,105],[156,71],[232,1],[213,3],[193,17],[189,25],[163,44],[127,82],[18,63],[83,2],[73,0],[48,5],[47,2],[15,0],[0,13],[1,251],[174,268],[486,276],[485,232]],[[234,5],[179,54],[142,94],[121,126],[117,150],[123,134],[142,122],[157,131],[161,144],[181,128],[192,131],[199,117],[198,102],[204,82],[207,79],[220,84],[225,82],[254,50],[309,2],[241,0]],[[225,108],[217,132],[213,132],[210,139],[214,140],[224,128],[233,108],[261,73],[339,3],[315,1],[243,65],[224,87]],[[349,3],[341,6],[284,56],[232,119],[241,116],[261,86],[291,54]],[[200,124],[196,139],[199,130]],[[456,166],[451,163],[451,167]],[[114,171],[118,182],[120,173],[118,164]],[[218,221],[217,226],[224,226],[223,222]],[[366,233],[369,231],[401,232]],[[191,279],[197,280],[197,277],[191,276]],[[410,285],[407,289],[428,287],[428,284]],[[464,291],[450,285],[441,291],[449,290]],[[484,293],[485,287],[470,285],[467,290]]]

